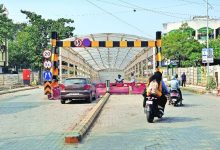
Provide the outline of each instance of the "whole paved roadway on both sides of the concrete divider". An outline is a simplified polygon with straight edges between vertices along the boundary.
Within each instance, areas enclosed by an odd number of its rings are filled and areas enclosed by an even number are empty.
[[[82,143],[65,144],[66,133],[96,104],[61,105],[42,89],[0,96],[1,150],[219,150],[220,98],[184,92],[184,106],[166,106],[147,123],[141,95],[111,95]]]

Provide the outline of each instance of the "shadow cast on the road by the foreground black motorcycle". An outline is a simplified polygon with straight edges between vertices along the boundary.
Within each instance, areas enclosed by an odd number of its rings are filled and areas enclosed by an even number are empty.
[[[191,122],[198,121],[200,118],[191,118],[191,117],[163,117],[162,119],[157,119],[155,122],[160,123],[175,123],[175,122]]]

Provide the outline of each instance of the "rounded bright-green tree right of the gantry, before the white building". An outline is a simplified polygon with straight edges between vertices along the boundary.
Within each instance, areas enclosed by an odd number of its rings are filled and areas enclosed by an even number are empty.
[[[162,38],[164,57],[178,60],[179,67],[191,66],[195,60],[201,59],[202,45],[189,34],[191,32],[187,24],[183,24],[180,29]]]

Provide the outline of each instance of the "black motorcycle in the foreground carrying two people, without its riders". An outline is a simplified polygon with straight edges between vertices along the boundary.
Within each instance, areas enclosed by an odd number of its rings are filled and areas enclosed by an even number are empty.
[[[147,97],[145,113],[149,123],[153,122],[154,117],[162,118],[163,108],[158,105],[157,97]]]

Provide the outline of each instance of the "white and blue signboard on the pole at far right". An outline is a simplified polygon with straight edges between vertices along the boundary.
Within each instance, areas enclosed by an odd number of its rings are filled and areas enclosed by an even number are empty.
[[[213,63],[213,48],[202,49],[202,63]]]

